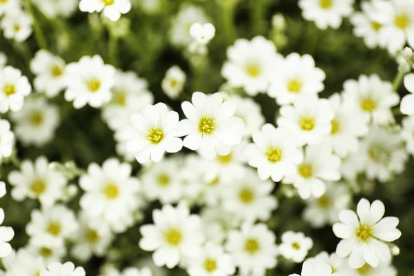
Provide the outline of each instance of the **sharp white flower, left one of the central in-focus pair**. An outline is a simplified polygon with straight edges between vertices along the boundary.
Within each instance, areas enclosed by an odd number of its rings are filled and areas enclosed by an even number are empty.
[[[175,111],[168,111],[165,103],[146,106],[140,113],[131,115],[132,126],[123,132],[128,141],[126,148],[135,153],[139,163],[145,163],[151,158],[159,162],[164,152],[178,152],[183,147],[183,141],[178,138],[179,117]]]

